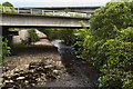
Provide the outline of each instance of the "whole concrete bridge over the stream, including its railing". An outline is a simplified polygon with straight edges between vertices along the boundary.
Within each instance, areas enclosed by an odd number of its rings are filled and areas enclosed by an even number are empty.
[[[8,8],[8,9],[7,9]],[[11,8],[2,7],[0,26],[8,28],[82,28],[89,27],[90,14],[95,8]],[[10,10],[10,11],[9,11]],[[86,12],[88,11],[88,12]],[[75,16],[76,14],[76,16]]]

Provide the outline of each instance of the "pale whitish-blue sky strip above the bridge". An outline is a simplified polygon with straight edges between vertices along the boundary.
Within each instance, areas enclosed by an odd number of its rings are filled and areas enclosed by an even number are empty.
[[[14,7],[101,7],[111,0],[0,0]]]

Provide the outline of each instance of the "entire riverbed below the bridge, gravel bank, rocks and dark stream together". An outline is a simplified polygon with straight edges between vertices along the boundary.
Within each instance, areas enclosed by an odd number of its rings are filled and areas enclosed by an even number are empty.
[[[43,38],[31,46],[12,48],[12,56],[4,59],[2,89],[98,89],[95,68],[76,59],[71,47],[60,41],[57,44],[60,49]]]

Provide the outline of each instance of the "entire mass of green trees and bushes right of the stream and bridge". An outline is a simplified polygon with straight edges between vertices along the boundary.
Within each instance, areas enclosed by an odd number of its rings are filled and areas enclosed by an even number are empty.
[[[133,88],[133,2],[109,2],[79,32],[80,58],[100,72],[100,88]]]

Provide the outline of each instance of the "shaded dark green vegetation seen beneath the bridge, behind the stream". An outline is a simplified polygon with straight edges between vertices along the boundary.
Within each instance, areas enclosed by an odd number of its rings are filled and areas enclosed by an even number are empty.
[[[39,30],[44,32],[50,40],[61,39],[61,40],[64,40],[66,44],[72,44],[74,43],[74,40],[75,40],[75,37],[74,37],[75,29],[42,29],[42,28],[39,28]]]

